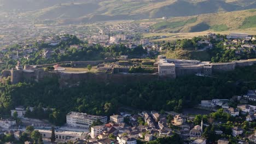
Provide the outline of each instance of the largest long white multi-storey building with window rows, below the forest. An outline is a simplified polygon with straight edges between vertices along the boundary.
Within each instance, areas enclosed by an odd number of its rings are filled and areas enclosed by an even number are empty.
[[[69,127],[89,129],[92,122],[99,119],[102,123],[107,123],[107,116],[94,116],[87,113],[69,112],[67,114],[67,125]]]

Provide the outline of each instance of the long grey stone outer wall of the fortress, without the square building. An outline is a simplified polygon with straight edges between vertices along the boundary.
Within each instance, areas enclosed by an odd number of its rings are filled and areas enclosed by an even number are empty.
[[[96,64],[102,61],[89,61],[82,62],[80,64]],[[211,75],[214,72],[222,72],[228,70],[234,70],[235,67],[245,67],[256,64],[256,59],[233,61],[230,63],[213,63],[207,65],[185,65],[176,67],[176,76],[194,75],[196,73],[202,73]],[[106,73],[63,73],[63,72],[51,72],[44,71],[43,69],[36,70],[4,70],[2,77],[10,76],[11,83],[19,83],[24,81],[40,81],[45,77],[56,77],[59,79],[62,85],[69,85],[69,83],[77,83],[84,81],[97,81],[97,82],[139,82],[159,80],[159,76],[156,74],[118,74],[120,71],[126,72],[127,69],[115,68],[115,74]],[[161,79],[174,78],[174,77],[161,77]]]

